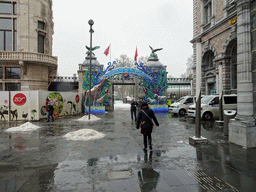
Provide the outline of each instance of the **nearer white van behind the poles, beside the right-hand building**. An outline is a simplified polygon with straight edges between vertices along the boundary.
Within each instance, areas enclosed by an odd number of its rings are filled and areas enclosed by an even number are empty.
[[[223,95],[223,110],[237,109],[237,95]],[[189,106],[188,116],[196,117],[196,104]],[[204,120],[219,118],[219,95],[205,95],[201,98],[201,118]]]

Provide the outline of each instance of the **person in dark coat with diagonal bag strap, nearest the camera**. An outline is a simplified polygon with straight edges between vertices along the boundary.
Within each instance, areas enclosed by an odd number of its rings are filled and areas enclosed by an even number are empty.
[[[139,129],[141,126],[141,134],[143,134],[143,143],[144,143],[144,151],[147,150],[147,146],[149,143],[149,149],[152,150],[152,137],[151,133],[153,130],[153,121],[156,126],[159,126],[159,123],[156,119],[154,111],[149,109],[147,102],[143,101],[141,103],[141,110],[138,113],[137,125],[136,128]]]

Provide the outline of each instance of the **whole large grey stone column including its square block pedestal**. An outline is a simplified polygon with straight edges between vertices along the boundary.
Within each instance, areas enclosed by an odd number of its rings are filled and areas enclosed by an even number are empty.
[[[253,118],[250,0],[237,1],[237,116],[230,121],[229,140],[256,147]]]

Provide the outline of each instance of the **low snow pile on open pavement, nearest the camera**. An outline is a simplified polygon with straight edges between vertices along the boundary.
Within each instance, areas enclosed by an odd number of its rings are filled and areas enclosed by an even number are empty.
[[[73,131],[64,135],[67,140],[82,140],[88,141],[93,139],[101,139],[105,137],[105,134],[95,131],[93,129],[80,129],[78,131]]]

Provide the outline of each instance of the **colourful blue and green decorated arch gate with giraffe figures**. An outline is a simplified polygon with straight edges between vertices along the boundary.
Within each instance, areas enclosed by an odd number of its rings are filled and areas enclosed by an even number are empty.
[[[143,63],[135,63],[134,68],[115,68],[115,62],[108,63],[106,70],[92,65],[91,113],[104,113],[114,110],[114,82],[117,75],[122,75],[125,81],[133,78],[129,84],[135,85],[134,77],[138,77],[138,86],[143,89],[143,99],[155,112],[168,112],[165,90],[168,87],[167,73],[163,66],[144,67]],[[85,113],[88,113],[89,70],[85,71],[83,88],[85,93]],[[120,84],[120,83],[119,83]],[[126,84],[126,83],[123,83]],[[112,86],[111,86],[112,85]],[[111,86],[111,87],[110,87]],[[138,98],[136,98],[138,99]]]

